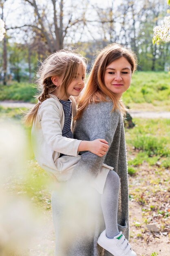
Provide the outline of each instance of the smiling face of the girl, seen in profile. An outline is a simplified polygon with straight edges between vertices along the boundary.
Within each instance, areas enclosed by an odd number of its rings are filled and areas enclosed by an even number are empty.
[[[77,74],[75,74],[73,81],[71,82],[71,84],[68,85],[67,88],[67,94],[68,97],[70,96],[79,96],[80,92],[83,90],[84,88],[84,79],[85,79],[85,67],[80,64],[78,67],[78,72]],[[64,96],[64,99],[62,98],[62,100],[68,100],[67,96]]]

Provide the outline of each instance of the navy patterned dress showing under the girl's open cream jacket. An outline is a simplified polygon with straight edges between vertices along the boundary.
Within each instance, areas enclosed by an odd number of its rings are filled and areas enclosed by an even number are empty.
[[[73,133],[71,131],[71,117],[72,117],[71,100],[68,99],[68,101],[62,101],[60,99],[59,101],[60,103],[62,103],[62,107],[64,110],[64,127],[62,129],[62,136],[73,139]],[[60,154],[60,157],[62,156],[64,156],[64,154]]]

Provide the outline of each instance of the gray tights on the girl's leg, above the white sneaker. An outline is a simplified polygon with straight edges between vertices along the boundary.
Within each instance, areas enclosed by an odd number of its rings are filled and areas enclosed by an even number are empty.
[[[120,179],[115,171],[109,171],[104,191],[101,196],[101,205],[106,226],[106,236],[114,238],[119,234],[117,226],[117,209],[119,199]]]

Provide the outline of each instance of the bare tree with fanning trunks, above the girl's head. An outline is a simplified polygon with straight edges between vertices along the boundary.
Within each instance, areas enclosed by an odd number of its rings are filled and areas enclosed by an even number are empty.
[[[24,0],[33,7],[35,15],[34,27],[41,33],[48,45],[49,52],[63,49],[64,38],[68,30],[79,22],[83,21],[84,10],[73,15],[73,5],[66,8],[64,0],[51,0],[46,4],[35,0]],[[48,8],[50,5],[51,9]],[[66,9],[68,12],[66,13]]]

